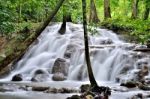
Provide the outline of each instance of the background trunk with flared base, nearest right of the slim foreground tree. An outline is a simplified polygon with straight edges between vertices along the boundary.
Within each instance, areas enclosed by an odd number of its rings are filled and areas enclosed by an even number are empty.
[[[97,16],[97,10],[96,10],[96,6],[94,3],[94,0],[90,0],[90,17],[89,17],[89,22],[94,22],[97,23],[99,22],[99,18]]]

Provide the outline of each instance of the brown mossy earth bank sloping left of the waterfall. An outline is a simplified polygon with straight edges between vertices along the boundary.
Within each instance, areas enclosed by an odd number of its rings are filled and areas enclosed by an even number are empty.
[[[25,24],[29,25],[29,23]],[[22,27],[11,36],[0,36],[0,76],[12,69],[11,63],[21,58],[23,52],[36,39],[35,30],[38,26],[39,23],[30,23],[30,27]]]

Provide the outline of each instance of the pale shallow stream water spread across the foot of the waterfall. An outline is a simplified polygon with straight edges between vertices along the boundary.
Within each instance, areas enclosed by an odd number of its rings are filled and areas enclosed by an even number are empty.
[[[30,82],[1,82],[0,83],[0,99],[66,99],[67,97],[80,93],[48,93],[46,91],[32,91],[32,87],[51,87],[51,88],[71,88],[79,90],[82,84],[89,82],[63,81],[63,82],[45,82],[45,83],[30,83]],[[150,99],[146,95],[150,91],[142,91],[138,88],[125,88],[119,84],[112,82],[99,82],[99,85],[109,86],[112,89],[110,99]],[[28,90],[23,89],[28,86]],[[5,89],[5,90],[2,90]],[[137,95],[142,94],[144,98],[138,98]]]

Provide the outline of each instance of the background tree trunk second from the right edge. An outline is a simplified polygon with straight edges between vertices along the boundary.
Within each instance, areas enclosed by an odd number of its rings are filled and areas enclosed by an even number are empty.
[[[133,4],[132,4],[132,19],[136,19],[137,18],[137,14],[138,14],[138,3],[139,0],[133,0]]]

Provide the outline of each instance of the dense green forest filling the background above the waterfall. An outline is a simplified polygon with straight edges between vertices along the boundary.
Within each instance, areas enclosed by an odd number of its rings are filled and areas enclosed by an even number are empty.
[[[57,2],[58,0],[1,0],[1,35],[11,38],[16,32],[37,26],[47,18]],[[136,36],[139,42],[146,43],[150,38],[149,5],[149,0],[88,0],[87,16],[89,24],[99,24],[114,30],[124,29],[129,31],[129,35]],[[81,0],[66,0],[53,21],[62,21],[63,15],[71,17],[74,23],[81,23]]]

